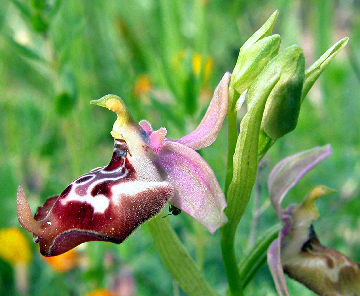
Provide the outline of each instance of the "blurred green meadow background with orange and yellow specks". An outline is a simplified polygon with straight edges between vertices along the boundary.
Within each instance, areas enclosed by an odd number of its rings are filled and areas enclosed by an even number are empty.
[[[318,201],[315,229],[325,245],[360,261],[359,0],[0,2],[0,255],[15,254],[0,259],[0,295],[83,296],[100,288],[118,296],[184,295],[157,255],[146,223],[121,245],[81,245],[63,269],[65,259],[45,261],[17,221],[16,188],[23,185],[34,213],[73,179],[108,163],[115,115],[89,101],[109,93],[121,96],[136,120],[166,126],[169,138],[191,131],[224,72],[232,71],[241,45],[275,9],[280,50],[299,44],[307,66],[342,37],[350,42],[310,91],[296,130],[265,157],[259,195],[238,228],[238,258],[277,222],[266,189],[271,168],[290,154],[330,143],[332,157],[285,203],[300,201],[313,185],[337,189]],[[217,141],[200,151],[221,185],[226,138],[224,124]],[[205,277],[224,293],[219,233],[211,236],[185,213],[169,218]],[[10,227],[25,243],[9,247],[15,237],[6,232]],[[21,261],[26,243],[30,253]],[[314,295],[290,279],[288,285],[292,295]],[[276,295],[267,266],[245,292]]]

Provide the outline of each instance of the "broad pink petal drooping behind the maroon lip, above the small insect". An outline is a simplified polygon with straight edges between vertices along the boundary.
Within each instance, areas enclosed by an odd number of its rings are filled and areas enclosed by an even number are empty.
[[[166,141],[155,164],[174,187],[172,203],[204,225],[210,233],[227,222],[226,201],[214,172],[193,149]]]

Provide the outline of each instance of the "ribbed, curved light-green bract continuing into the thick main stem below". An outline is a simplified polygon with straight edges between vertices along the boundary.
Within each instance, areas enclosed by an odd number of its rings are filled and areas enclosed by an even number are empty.
[[[279,78],[280,74],[277,74],[261,92],[255,92],[254,102],[256,103],[252,105],[242,119],[240,133],[236,140],[232,162],[234,166],[233,176],[227,192],[228,206],[225,209],[229,221],[221,228],[220,235],[224,267],[232,296],[243,295],[234,250],[235,233],[250,199],[256,179],[259,132],[265,103]],[[229,143],[232,143],[232,141],[234,139],[229,138]]]

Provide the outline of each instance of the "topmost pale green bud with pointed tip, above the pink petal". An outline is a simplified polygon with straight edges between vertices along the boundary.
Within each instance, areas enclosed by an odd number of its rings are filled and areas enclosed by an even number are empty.
[[[277,16],[278,11],[275,11],[240,49],[229,86],[231,109],[235,107],[236,99],[239,97],[234,90],[240,95],[249,88],[256,76],[279,51],[280,36],[269,36]]]

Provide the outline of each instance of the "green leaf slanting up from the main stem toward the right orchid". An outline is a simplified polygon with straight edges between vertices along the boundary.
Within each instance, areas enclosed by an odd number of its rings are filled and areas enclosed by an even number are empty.
[[[266,262],[266,252],[273,240],[278,237],[280,229],[280,224],[268,229],[258,239],[255,246],[242,257],[242,260],[239,263],[239,274],[244,289]]]

